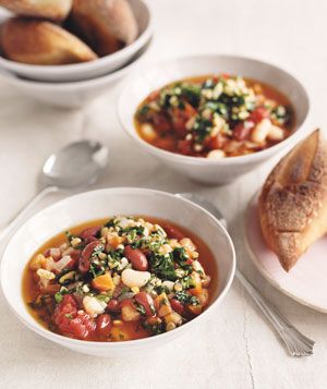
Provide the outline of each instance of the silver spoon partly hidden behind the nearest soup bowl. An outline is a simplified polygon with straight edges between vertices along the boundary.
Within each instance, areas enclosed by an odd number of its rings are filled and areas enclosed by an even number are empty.
[[[198,204],[203,208],[207,209],[213,216],[218,219],[227,229],[227,221],[223,218],[220,210],[210,202],[202,196],[193,193],[178,193],[177,196],[184,197],[193,203]],[[272,325],[280,339],[284,343],[289,354],[291,356],[308,356],[313,354],[313,348],[315,342],[304,335],[302,335],[296,328],[294,328],[287,318],[284,318],[275,306],[272,306],[257,289],[245,278],[245,276],[237,269],[235,277],[239,282],[244,287],[249,295],[258,306],[258,308],[265,314],[269,323]]]

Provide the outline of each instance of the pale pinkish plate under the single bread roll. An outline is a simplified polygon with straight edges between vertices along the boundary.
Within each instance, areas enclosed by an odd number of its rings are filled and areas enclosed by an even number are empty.
[[[249,205],[245,231],[251,258],[266,280],[300,304],[327,313],[327,238],[313,244],[290,272],[287,272],[264,241],[257,196]]]

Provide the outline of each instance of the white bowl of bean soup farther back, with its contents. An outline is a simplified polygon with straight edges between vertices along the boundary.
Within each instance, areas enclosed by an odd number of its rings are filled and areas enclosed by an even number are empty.
[[[184,93],[190,83],[198,88],[195,104]],[[231,102],[240,96],[245,102]],[[141,108],[147,109],[143,121]],[[238,56],[193,56],[148,66],[126,80],[118,101],[120,122],[138,146],[183,175],[210,184],[233,181],[293,147],[307,133],[308,113],[308,95],[293,75]],[[203,130],[206,137],[198,141]]]

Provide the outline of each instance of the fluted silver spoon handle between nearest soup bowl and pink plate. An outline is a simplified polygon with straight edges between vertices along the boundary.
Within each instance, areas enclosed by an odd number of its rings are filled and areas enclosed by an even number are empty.
[[[284,318],[267,300],[263,297],[263,295],[239,270],[237,270],[235,276],[252,300],[256,303],[258,308],[270,321],[280,339],[286,344],[288,352],[292,356],[312,355],[315,342],[294,328],[287,318]]]

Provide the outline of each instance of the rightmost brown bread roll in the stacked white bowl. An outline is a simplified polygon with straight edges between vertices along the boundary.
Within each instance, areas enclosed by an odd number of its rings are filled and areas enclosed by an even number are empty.
[[[137,23],[126,0],[74,0],[71,19],[82,38],[101,57],[137,37]]]

